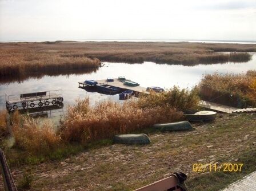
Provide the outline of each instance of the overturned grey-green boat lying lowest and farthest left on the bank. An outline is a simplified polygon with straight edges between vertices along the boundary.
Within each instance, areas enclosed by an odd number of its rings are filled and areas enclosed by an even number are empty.
[[[151,141],[146,134],[121,134],[113,137],[114,143],[149,144]]]

